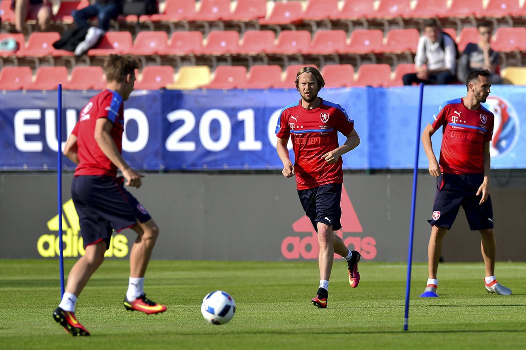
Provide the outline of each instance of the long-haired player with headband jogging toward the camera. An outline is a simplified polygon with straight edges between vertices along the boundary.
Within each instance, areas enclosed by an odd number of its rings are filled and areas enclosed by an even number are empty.
[[[318,97],[325,81],[316,68],[301,68],[295,83],[301,99],[281,111],[276,129],[277,152],[283,162],[283,175],[286,178],[296,176],[301,205],[318,232],[320,285],[311,303],[325,308],[334,253],[347,260],[351,287],[357,287],[360,282],[360,253],[350,251],[334,234],[334,231],[341,229],[341,155],[356,148],[360,138],[354,127],[355,122],[349,119],[340,105]],[[347,137],[342,146],[338,145],[338,131]],[[294,165],[287,149],[290,137],[295,154]]]

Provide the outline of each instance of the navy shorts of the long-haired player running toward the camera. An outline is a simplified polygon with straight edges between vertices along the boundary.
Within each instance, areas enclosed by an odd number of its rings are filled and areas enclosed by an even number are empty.
[[[317,222],[341,229],[341,183],[328,183],[307,190],[298,190],[299,200],[305,214],[318,232]]]

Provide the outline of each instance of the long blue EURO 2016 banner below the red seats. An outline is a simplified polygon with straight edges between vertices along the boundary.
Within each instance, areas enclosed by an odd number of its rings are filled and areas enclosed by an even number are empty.
[[[494,86],[485,106],[495,114],[492,168],[526,168],[526,87]],[[64,91],[62,145],[96,91]],[[422,128],[443,101],[464,86],[424,89]],[[323,89],[355,120],[360,146],[343,156],[345,169],[411,169],[418,87]],[[281,169],[275,129],[281,109],[299,101],[296,90],[134,91],[125,102],[123,156],[131,167],[157,170]],[[57,92],[0,94],[0,169],[56,170]],[[441,133],[433,136],[438,157]],[[340,142],[345,138],[340,135]],[[292,155],[291,152],[291,158]],[[65,160],[64,167],[73,163]],[[419,167],[428,161],[420,151]]]

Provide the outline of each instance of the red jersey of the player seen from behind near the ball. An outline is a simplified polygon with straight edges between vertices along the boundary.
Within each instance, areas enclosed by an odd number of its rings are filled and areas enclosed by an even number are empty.
[[[77,137],[78,160],[75,176],[105,175],[117,176],[117,167],[106,157],[95,141],[95,122],[99,118],[107,118],[113,122],[110,131],[113,141],[122,152],[124,132],[123,98],[112,90],[104,90],[92,97],[80,112],[80,118],[72,131]]]

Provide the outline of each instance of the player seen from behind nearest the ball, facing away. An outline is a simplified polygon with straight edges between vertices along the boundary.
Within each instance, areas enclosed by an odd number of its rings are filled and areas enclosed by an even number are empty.
[[[77,297],[104,261],[113,230],[131,228],[137,239],[130,251],[130,277],[124,298],[127,310],[146,314],[164,312],[144,293],[144,275],[159,228],[146,209],[124,188],[139,188],[144,176],[121,156],[124,101],[133,91],[137,59],[109,55],[104,62],[106,89],[89,100],[64,147],[64,155],[77,164],[72,199],[79,217],[85,255],[69,272],[62,301],[53,319],[72,335],[89,335],[75,317]],[[117,178],[117,169],[123,178]]]

